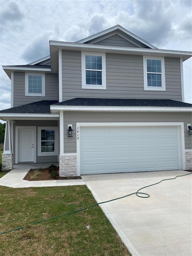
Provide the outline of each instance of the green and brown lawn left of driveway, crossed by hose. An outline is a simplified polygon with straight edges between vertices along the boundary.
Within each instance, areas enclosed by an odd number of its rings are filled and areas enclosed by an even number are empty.
[[[29,225],[95,203],[84,186],[7,188],[0,186],[1,255],[131,255],[99,206]],[[90,229],[86,226],[90,224]]]

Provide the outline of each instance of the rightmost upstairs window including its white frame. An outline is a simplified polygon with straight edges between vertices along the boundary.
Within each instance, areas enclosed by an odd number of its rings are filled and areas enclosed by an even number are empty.
[[[165,91],[164,57],[143,56],[144,90]]]

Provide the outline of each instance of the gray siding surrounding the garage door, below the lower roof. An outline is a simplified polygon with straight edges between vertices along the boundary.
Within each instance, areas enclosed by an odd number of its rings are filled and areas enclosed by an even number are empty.
[[[64,153],[76,153],[76,122],[184,122],[185,149],[192,148],[187,131],[191,113],[64,112]],[[67,124],[73,125],[73,138],[67,137]]]

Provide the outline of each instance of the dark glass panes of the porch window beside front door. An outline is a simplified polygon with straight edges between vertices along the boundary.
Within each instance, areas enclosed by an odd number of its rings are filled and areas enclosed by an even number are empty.
[[[55,152],[55,130],[41,130],[41,153]]]

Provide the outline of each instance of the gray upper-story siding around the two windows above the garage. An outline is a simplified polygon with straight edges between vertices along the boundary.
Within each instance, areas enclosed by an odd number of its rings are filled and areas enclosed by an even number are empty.
[[[81,88],[81,52],[62,51],[63,100],[153,98],[182,101],[179,58],[165,58],[166,91],[144,91],[143,56],[106,53],[106,90]]]

